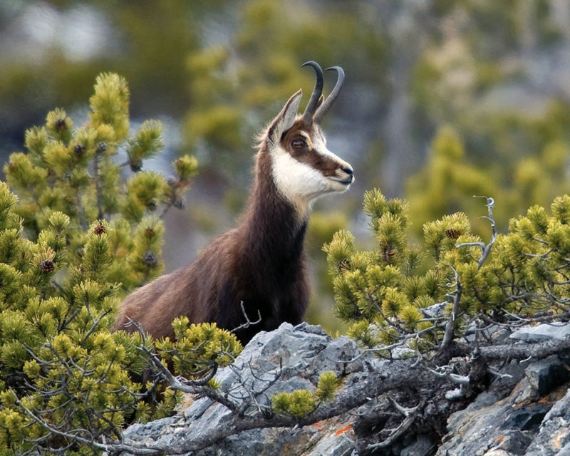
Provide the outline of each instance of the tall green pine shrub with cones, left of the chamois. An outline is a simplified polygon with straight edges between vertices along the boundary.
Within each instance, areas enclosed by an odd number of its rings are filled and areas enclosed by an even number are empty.
[[[160,378],[136,381],[155,350],[152,338],[108,332],[123,296],[162,271],[160,217],[182,206],[197,171],[189,156],[172,163],[170,180],[142,170],[162,148],[163,127],[147,120],[131,134],[128,102],[123,78],[98,76],[85,125],[73,128],[63,110],[51,111],[45,125],[26,132],[26,152],[4,167],[3,455],[99,452],[105,441],[120,440],[126,423],[171,413],[180,395]],[[241,350],[215,326],[177,321],[177,336],[157,341],[159,352],[187,376],[227,364]]]

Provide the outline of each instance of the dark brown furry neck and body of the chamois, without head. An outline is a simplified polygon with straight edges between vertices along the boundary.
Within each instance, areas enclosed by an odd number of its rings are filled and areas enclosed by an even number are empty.
[[[284,321],[301,323],[309,302],[303,254],[306,220],[276,191],[266,142],[257,154],[255,175],[238,226],[215,239],[192,264],[127,296],[115,331],[132,318],[152,336],[173,336],[171,323],[180,315],[192,323],[215,321],[232,330],[245,322],[240,301],[252,320],[261,312],[261,323],[237,331],[244,343]]]

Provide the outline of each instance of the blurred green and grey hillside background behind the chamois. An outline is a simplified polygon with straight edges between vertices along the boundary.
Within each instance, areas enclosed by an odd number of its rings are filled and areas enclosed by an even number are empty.
[[[353,224],[363,190],[379,187],[389,196],[407,197],[415,237],[421,237],[426,219],[455,211],[467,213],[480,234],[484,224],[476,219],[472,194],[482,193],[497,200],[497,223],[506,229],[508,219],[529,204],[548,204],[567,189],[570,102],[560,82],[567,78],[559,56],[570,35],[564,25],[569,6],[563,3],[1,5],[0,36],[6,38],[0,53],[0,154],[21,149],[21,133],[41,123],[52,105],[83,112],[98,73],[120,73],[130,81],[135,119],[164,115],[180,125],[180,145],[175,139],[169,152],[192,153],[202,167],[189,224],[216,234],[228,224],[220,212],[234,215],[243,207],[254,136],[291,93],[311,90],[313,75],[299,66],[316,60],[346,70],[325,132],[331,150],[351,162],[357,178],[353,190],[328,207],[340,204],[335,209]],[[30,21],[33,11],[32,18],[39,14],[51,23]],[[81,17],[73,14],[81,11],[98,18],[95,25],[102,28],[73,23]],[[48,36],[50,26],[61,29]],[[80,28],[76,36],[64,33],[73,26]],[[83,32],[91,33],[99,48],[77,58],[70,49]],[[34,48],[41,58],[26,60]],[[325,90],[330,86],[327,78]],[[405,135],[403,144],[389,139],[398,125],[405,126],[396,132]],[[447,155],[445,142],[455,142],[457,154]],[[318,209],[325,213],[328,207],[323,199]],[[330,241],[327,236],[323,240]],[[315,269],[321,296],[327,286],[318,271],[324,266]],[[310,314],[314,321],[316,314],[318,309]]]

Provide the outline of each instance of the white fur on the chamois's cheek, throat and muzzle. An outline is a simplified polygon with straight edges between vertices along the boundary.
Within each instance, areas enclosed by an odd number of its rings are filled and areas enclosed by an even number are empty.
[[[311,141],[309,135],[304,136],[308,142]],[[351,165],[348,165],[347,162],[326,148],[321,135],[315,136],[316,138],[312,140],[313,151],[311,153],[326,155],[338,162],[339,169],[341,167],[351,169]],[[294,204],[301,216],[305,216],[309,212],[315,199],[321,195],[330,192],[345,192],[350,187],[350,184],[340,182],[346,180],[346,173],[339,171],[341,175],[327,177],[311,165],[291,157],[281,145],[276,145],[271,150],[271,161],[273,163],[273,179],[277,190]]]

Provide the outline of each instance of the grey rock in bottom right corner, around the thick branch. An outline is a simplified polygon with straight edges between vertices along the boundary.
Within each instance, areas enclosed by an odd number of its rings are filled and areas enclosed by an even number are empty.
[[[567,324],[529,326],[511,338],[536,343],[563,339],[569,331]],[[450,416],[437,456],[569,456],[569,381],[564,356],[504,366],[487,390]]]

